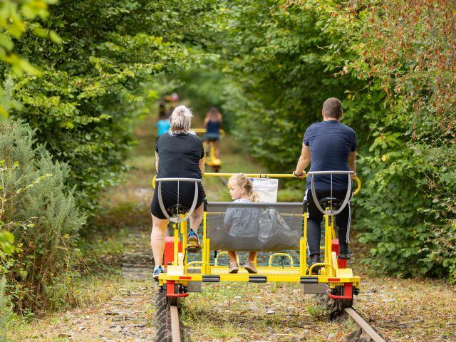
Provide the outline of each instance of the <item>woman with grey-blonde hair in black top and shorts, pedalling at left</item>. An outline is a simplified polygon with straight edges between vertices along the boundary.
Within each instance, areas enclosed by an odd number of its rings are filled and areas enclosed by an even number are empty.
[[[190,133],[192,112],[185,105],[177,106],[171,114],[169,133],[160,135],[155,146],[155,170],[157,178],[193,178],[201,179],[204,175],[204,149],[196,135]],[[192,207],[195,196],[193,182],[162,182],[162,202],[165,208],[179,203],[182,207]],[[179,198],[177,198],[179,197]],[[190,232],[187,241],[197,251],[201,249],[197,230],[203,217],[204,189],[198,183],[196,209],[190,215]],[[178,201],[178,202],[177,202]],[[165,250],[165,233],[170,222],[160,208],[157,191],[150,204],[152,214],[152,233],[150,240],[155,260],[154,279],[163,272],[163,251]],[[168,213],[170,216],[170,213]]]

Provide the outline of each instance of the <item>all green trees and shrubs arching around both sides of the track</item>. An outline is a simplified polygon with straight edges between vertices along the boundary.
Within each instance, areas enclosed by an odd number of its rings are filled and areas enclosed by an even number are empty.
[[[456,281],[455,8],[2,1],[1,289],[20,312],[71,304],[83,224],[126,170],[133,127],[172,91],[197,114],[221,108],[274,172],[294,170],[323,100],[343,100],[358,135],[353,232],[370,247],[365,262]]]

